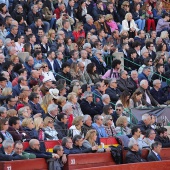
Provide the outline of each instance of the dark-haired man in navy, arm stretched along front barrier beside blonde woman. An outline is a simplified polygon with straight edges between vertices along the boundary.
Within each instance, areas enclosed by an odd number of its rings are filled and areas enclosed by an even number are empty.
[[[90,152],[96,152],[98,150],[98,146],[92,146],[90,148],[85,148],[83,146],[83,138],[81,135],[75,135],[73,137],[73,149],[72,153],[90,153]]]

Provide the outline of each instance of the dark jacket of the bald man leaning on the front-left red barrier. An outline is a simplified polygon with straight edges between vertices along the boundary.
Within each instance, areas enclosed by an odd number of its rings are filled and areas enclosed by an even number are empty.
[[[52,153],[50,153],[50,152],[42,152],[42,151],[39,151],[39,150],[32,149],[30,147],[25,149],[25,152],[35,154],[36,158],[45,158],[45,159],[52,158]]]

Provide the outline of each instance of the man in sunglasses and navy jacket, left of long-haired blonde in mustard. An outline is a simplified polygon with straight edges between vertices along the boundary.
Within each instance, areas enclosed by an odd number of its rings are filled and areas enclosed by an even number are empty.
[[[37,113],[41,113],[42,117],[44,117],[45,113],[44,110],[42,109],[42,107],[39,104],[39,96],[37,93],[31,93],[29,96],[29,104],[32,108],[33,111],[33,115],[37,114]]]

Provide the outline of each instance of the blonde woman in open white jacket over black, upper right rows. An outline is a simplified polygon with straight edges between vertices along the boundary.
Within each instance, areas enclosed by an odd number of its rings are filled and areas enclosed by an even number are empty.
[[[135,21],[132,19],[132,14],[127,13],[125,15],[125,19],[122,21],[122,31],[128,31],[129,38],[134,38],[136,35],[136,32],[139,31],[137,28]]]

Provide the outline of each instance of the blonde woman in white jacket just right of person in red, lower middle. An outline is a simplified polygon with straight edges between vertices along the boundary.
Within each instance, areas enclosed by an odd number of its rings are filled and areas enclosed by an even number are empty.
[[[74,137],[75,135],[81,135],[84,138],[82,132],[83,127],[83,116],[77,116],[73,120],[73,125],[69,129],[69,136]]]

